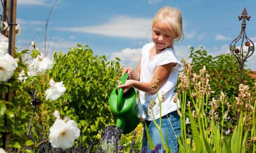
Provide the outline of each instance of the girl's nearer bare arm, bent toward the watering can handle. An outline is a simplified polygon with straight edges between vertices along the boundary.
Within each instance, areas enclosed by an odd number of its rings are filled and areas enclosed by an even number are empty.
[[[130,87],[135,87],[141,91],[153,94],[156,92],[155,88],[152,87],[152,83],[158,77],[160,81],[157,84],[158,89],[164,84],[164,82],[168,79],[170,72],[172,71],[175,63],[168,63],[165,65],[157,66],[156,70],[153,74],[153,78],[151,82],[140,82],[137,80],[126,80],[125,84],[119,85],[118,88],[124,88],[124,93],[127,92]],[[125,90],[126,89],[126,90]]]

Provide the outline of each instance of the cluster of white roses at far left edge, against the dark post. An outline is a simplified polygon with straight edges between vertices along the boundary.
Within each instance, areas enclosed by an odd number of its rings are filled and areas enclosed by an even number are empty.
[[[0,82],[7,82],[18,67],[17,59],[7,53],[8,44],[8,39],[0,35]]]

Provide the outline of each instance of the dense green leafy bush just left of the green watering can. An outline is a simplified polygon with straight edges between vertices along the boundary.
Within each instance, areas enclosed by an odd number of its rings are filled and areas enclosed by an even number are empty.
[[[70,48],[67,55],[55,53],[49,77],[64,82],[66,92],[63,101],[55,104],[56,109],[78,123],[80,140],[87,146],[96,141],[98,131],[113,123],[108,100],[121,71],[119,59],[109,62],[105,56],[93,56],[93,51],[84,46]]]

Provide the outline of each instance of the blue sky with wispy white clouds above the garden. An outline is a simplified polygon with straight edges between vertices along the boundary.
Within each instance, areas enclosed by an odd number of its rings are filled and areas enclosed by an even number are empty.
[[[17,23],[21,33],[16,37],[18,50],[31,48],[33,40],[44,52],[46,18],[55,0],[18,0]],[[152,42],[151,20],[163,6],[175,7],[183,15],[184,40],[175,45],[181,60],[188,58],[190,47],[201,46],[216,56],[229,53],[229,45],[241,31],[238,16],[246,8],[246,34],[256,45],[256,1],[174,1],[174,0],[58,0],[49,19],[48,56],[70,46],[87,44],[95,55],[109,60],[119,57],[124,66],[136,67],[141,47]],[[50,40],[51,38],[51,40]],[[49,42],[50,40],[50,42]],[[246,68],[256,70],[256,53],[249,57]]]

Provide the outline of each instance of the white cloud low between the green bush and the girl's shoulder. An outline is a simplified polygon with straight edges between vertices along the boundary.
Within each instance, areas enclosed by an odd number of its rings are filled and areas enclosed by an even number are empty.
[[[118,57],[124,66],[132,66],[137,68],[137,64],[140,60],[141,48],[124,48],[120,52],[113,52],[110,59],[114,60]]]

